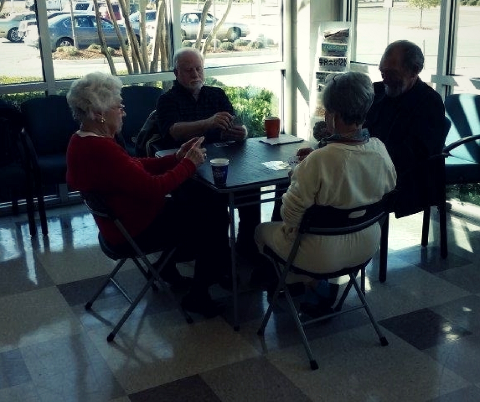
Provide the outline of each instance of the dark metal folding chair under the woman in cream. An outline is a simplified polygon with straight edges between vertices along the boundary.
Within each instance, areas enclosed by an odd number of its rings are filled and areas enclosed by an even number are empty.
[[[367,304],[367,300],[365,299],[365,267],[371,260],[371,257],[363,262],[362,264],[356,265],[354,267],[345,267],[335,272],[330,273],[315,273],[311,271],[306,271],[304,269],[300,269],[293,265],[295,261],[295,256],[297,255],[297,250],[300,246],[302,238],[304,235],[321,235],[321,236],[339,236],[345,235],[349,233],[359,232],[363,229],[370,227],[375,223],[380,223],[380,225],[385,221],[385,218],[388,214],[390,209],[390,204],[392,202],[392,193],[385,195],[379,202],[367,206],[357,207],[353,209],[339,209],[333,208],[329,206],[319,206],[314,205],[308,208],[302,218],[300,223],[300,227],[298,230],[298,235],[293,243],[292,249],[290,251],[289,257],[287,260],[283,260],[278,255],[273,252],[272,249],[269,247],[265,247],[265,254],[273,261],[275,269],[277,271],[279,281],[278,286],[275,290],[275,293],[270,301],[270,305],[268,307],[265,316],[263,316],[263,320],[261,322],[260,328],[257,332],[258,335],[263,335],[265,333],[265,328],[268,324],[270,316],[272,315],[273,308],[278,301],[278,296],[280,292],[284,292],[287,300],[287,304],[289,306],[289,310],[295,320],[295,324],[297,329],[300,333],[302,338],[302,343],[305,348],[305,351],[308,355],[308,359],[310,361],[310,368],[312,370],[318,369],[317,361],[311,351],[310,345],[305,335],[304,327],[327,319],[339,314],[351,312],[358,309],[365,309],[367,312],[368,317],[370,318],[370,322],[372,323],[378,338],[380,340],[380,344],[382,346],[388,345],[387,338],[383,336],[380,331],[378,324],[376,323],[373,314],[370,310],[370,307]],[[362,212],[365,213],[362,215]],[[361,215],[361,216],[358,216]],[[373,256],[372,256],[373,257]],[[311,267],[312,270],[315,267]],[[290,273],[297,273],[302,275],[307,275],[310,278],[314,278],[317,280],[329,280],[333,278],[339,278],[344,275],[348,275],[350,278],[342,296],[340,297],[337,305],[334,308],[334,312],[331,314],[327,314],[318,318],[314,319],[306,319],[306,317],[300,317],[295,303],[292,299],[292,296],[289,292],[289,288],[286,286],[285,280],[287,275]],[[356,277],[358,272],[361,272],[361,285],[358,285],[356,281]],[[348,309],[342,310],[342,306],[344,301],[352,288],[355,288],[355,291],[360,299],[361,303],[356,306],[349,307]]]

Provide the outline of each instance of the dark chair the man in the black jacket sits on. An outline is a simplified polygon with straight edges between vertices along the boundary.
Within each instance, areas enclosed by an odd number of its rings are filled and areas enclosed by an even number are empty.
[[[431,156],[424,163],[417,165],[410,175],[405,187],[407,190],[400,190],[395,196],[392,204],[392,211],[397,218],[423,212],[422,239],[423,247],[428,245],[428,232],[430,228],[430,209],[437,207],[440,225],[440,256],[447,258],[447,208],[445,188],[445,140],[451,126],[450,120],[445,117],[444,131],[438,137],[438,154]],[[415,189],[415,190],[411,190]],[[404,206],[407,206],[406,208]],[[408,212],[405,212],[405,211]],[[382,226],[379,259],[379,281],[387,280],[387,250],[388,250],[389,217]]]

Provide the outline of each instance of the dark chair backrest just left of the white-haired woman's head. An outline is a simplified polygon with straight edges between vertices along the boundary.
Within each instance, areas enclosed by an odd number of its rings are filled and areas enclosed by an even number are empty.
[[[20,110],[37,155],[66,153],[68,141],[79,124],[71,114],[65,95],[28,99],[20,105]]]

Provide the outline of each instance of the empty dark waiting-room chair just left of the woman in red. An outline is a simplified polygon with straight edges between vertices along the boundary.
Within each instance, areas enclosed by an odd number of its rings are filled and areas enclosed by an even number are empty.
[[[32,164],[39,208],[44,210],[43,188],[65,183],[66,150],[71,135],[79,128],[64,95],[28,99],[20,105],[25,124],[23,145]],[[47,234],[46,218],[42,233]]]

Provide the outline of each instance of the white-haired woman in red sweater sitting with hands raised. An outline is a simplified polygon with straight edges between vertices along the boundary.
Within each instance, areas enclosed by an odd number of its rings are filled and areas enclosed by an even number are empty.
[[[205,211],[175,198],[175,191],[205,161],[203,137],[190,139],[177,153],[162,158],[129,156],[115,141],[126,116],[121,89],[121,80],[101,72],[89,73],[71,85],[67,101],[80,130],[67,149],[67,183],[74,190],[100,195],[143,249],[186,244],[196,263],[182,307],[205,317],[216,316],[220,305],[211,299],[208,288],[219,279],[213,247],[220,234],[207,221]],[[125,246],[112,222],[101,218],[96,222],[113,247]],[[162,278],[178,282],[183,277],[172,265],[162,271]]]

